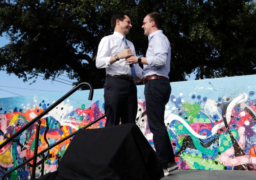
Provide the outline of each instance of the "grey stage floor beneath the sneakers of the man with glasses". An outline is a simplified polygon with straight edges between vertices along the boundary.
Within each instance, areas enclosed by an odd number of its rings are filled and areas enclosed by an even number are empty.
[[[161,180],[255,180],[256,171],[177,169]]]

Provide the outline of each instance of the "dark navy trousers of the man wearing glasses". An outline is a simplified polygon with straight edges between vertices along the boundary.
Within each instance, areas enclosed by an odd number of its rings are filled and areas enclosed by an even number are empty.
[[[165,126],[165,105],[171,95],[169,80],[149,80],[145,84],[144,95],[149,129],[153,134],[155,151],[162,162],[163,168],[168,167],[168,162],[173,162],[174,151]]]

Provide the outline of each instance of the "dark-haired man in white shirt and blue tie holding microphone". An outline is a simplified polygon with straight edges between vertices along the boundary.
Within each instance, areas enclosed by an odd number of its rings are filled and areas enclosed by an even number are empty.
[[[137,115],[137,87],[134,81],[143,78],[142,69],[134,65],[136,78],[132,77],[125,59],[136,55],[134,45],[125,38],[131,25],[127,13],[116,13],[111,18],[114,33],[101,39],[96,58],[97,68],[106,68],[104,106],[107,117],[105,127],[120,123],[135,123]]]

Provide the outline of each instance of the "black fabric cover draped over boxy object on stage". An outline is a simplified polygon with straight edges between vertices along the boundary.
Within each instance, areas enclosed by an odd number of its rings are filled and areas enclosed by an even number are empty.
[[[55,180],[159,180],[162,164],[136,124],[80,129]],[[41,177],[43,179],[43,177]]]

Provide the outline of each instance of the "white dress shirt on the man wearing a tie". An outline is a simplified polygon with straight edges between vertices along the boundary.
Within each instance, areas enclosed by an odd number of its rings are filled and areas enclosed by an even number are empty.
[[[130,46],[131,51],[136,55],[134,45],[131,41],[127,40],[128,46]],[[125,43],[123,41],[123,35],[114,31],[112,35],[105,36],[101,39],[99,43],[97,57],[96,57],[96,67],[106,68],[106,74],[110,75],[126,75],[131,76],[131,68],[126,65],[125,59],[120,59],[117,62],[110,64],[110,58],[125,50]],[[138,64],[134,64],[136,76],[143,78],[142,69]]]

